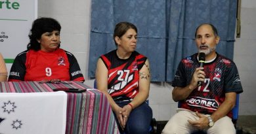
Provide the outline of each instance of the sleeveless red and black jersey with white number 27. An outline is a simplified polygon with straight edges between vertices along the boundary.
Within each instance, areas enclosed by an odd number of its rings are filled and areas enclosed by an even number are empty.
[[[139,71],[146,57],[133,52],[128,59],[119,59],[116,50],[100,56],[108,69],[108,93],[114,101],[128,101],[139,93]]]

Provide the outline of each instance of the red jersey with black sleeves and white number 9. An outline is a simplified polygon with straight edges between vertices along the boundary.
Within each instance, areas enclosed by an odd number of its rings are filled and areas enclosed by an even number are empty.
[[[9,81],[41,80],[84,81],[74,55],[58,48],[54,52],[26,50],[16,56]]]

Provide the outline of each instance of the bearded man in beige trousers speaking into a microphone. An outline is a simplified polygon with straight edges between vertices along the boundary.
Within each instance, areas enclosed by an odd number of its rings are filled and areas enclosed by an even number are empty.
[[[199,25],[195,41],[198,53],[182,59],[175,74],[172,95],[179,108],[162,133],[236,133],[232,108],[243,92],[238,69],[215,52],[220,37],[212,24]]]

